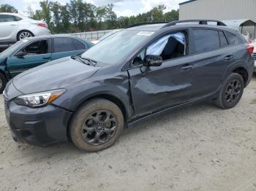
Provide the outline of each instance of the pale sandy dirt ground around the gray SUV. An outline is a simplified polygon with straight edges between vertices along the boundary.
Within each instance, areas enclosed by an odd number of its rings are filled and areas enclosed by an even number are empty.
[[[12,141],[0,103],[0,190],[256,190],[256,77],[233,109],[179,109],[97,153]]]

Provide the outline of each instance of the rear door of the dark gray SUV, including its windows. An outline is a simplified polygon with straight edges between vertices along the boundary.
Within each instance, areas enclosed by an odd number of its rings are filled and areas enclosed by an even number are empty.
[[[218,90],[222,76],[233,55],[222,31],[208,28],[191,29],[192,93],[200,98]]]

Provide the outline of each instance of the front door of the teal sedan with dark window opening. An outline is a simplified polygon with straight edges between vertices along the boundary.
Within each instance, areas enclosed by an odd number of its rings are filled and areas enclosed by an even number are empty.
[[[38,39],[33,42],[29,42],[18,52],[24,52],[23,57],[13,55],[12,58],[7,59],[7,69],[11,77],[15,77],[23,71],[32,69],[43,63],[47,63],[51,59],[51,53],[49,51],[49,40]]]

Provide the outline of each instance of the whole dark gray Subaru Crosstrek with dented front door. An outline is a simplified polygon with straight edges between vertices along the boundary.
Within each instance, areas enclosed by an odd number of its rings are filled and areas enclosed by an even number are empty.
[[[219,21],[132,26],[10,80],[7,122],[15,140],[46,146],[71,139],[97,152],[124,127],[179,106],[236,106],[252,78],[252,52]]]

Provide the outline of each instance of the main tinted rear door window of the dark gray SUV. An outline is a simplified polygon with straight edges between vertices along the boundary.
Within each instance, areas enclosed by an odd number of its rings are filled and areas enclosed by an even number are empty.
[[[219,32],[208,29],[193,29],[194,52],[208,52],[219,48]]]

